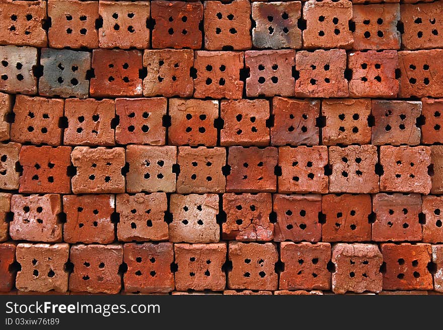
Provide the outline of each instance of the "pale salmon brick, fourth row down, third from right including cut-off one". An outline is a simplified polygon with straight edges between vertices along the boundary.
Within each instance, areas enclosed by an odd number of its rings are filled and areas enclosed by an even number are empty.
[[[372,145],[329,147],[329,192],[374,193],[379,191],[377,147]]]

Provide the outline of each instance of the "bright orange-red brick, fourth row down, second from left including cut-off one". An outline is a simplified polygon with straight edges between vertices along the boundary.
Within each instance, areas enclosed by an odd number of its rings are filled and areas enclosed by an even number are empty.
[[[70,193],[70,147],[23,146],[19,154],[23,174],[19,192]]]

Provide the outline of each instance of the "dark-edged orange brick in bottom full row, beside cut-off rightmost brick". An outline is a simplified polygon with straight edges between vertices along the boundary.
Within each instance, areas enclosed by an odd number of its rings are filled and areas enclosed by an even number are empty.
[[[430,244],[385,243],[380,248],[386,263],[383,290],[432,290]]]

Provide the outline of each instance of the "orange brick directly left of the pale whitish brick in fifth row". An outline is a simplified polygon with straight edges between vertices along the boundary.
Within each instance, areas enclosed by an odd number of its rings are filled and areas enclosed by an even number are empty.
[[[117,224],[119,241],[164,241],[168,239],[165,212],[168,200],[165,193],[118,194],[116,211],[120,214]],[[147,214],[147,215],[146,215]]]

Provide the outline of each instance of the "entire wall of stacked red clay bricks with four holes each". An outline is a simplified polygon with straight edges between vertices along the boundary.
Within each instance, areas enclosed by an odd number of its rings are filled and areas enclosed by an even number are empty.
[[[442,11],[0,0],[0,293],[443,293]]]

